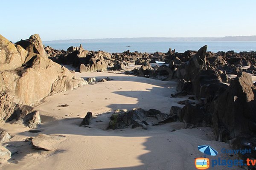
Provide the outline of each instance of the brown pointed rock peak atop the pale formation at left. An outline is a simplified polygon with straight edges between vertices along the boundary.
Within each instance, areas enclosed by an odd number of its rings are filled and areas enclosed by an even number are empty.
[[[27,40],[20,40],[15,44],[20,45],[26,51],[31,53],[40,54],[42,57],[48,58],[47,53],[44,51],[44,45],[39,34],[34,34]]]

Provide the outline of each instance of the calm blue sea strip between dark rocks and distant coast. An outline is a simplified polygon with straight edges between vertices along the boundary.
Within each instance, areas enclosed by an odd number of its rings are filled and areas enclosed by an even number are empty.
[[[123,52],[139,51],[152,53],[155,51],[167,52],[169,48],[176,52],[187,50],[198,50],[204,45],[208,45],[207,51],[256,51],[256,41],[172,41],[172,42],[87,42],[81,43],[84,49],[93,51]],[[44,43],[55,49],[67,50],[70,46],[79,46],[80,43]],[[130,47],[128,47],[130,46]]]

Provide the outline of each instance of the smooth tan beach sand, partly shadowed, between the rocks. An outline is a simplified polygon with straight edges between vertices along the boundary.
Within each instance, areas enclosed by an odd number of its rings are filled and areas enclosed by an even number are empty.
[[[80,77],[110,77],[111,81],[83,85],[73,91],[49,96],[35,108],[40,111],[41,133],[65,136],[56,142],[53,151],[32,149],[28,127],[0,123],[0,128],[13,136],[6,144],[15,144],[18,153],[2,170],[194,170],[195,158],[204,154],[198,145],[210,144],[219,151],[210,159],[237,159],[221,153],[230,149],[227,143],[216,142],[210,127],[183,129],[183,122],[142,128],[106,130],[116,109],[154,108],[169,113],[180,98],[175,94],[175,81],[160,81],[119,72],[76,73]],[[67,107],[58,105],[67,104]],[[93,113],[90,127],[79,127],[87,111]],[[102,122],[100,122],[102,121]],[[175,131],[173,131],[175,129]],[[215,170],[229,170],[216,166]],[[239,170],[233,167],[233,170]]]

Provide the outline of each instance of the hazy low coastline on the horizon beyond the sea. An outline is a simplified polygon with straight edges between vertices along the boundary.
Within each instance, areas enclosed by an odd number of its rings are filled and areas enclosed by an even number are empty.
[[[170,42],[170,41],[256,41],[256,35],[228,36],[228,37],[141,37],[141,38],[72,39],[72,40],[43,41],[43,43]]]

